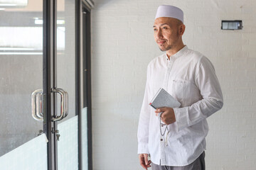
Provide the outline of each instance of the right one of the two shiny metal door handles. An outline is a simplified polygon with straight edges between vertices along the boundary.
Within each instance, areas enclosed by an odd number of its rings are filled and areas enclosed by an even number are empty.
[[[60,94],[60,115],[53,116],[53,122],[62,120],[68,115],[68,93],[63,89],[53,88],[53,93]]]

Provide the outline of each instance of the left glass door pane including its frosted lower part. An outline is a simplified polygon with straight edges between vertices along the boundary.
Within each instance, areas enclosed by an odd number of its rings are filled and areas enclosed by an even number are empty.
[[[0,0],[0,21],[0,169],[47,169],[43,1]]]

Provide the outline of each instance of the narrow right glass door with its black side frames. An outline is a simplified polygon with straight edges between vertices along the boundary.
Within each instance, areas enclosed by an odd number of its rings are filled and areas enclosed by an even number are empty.
[[[48,159],[51,169],[70,170],[87,169],[86,123],[82,124],[81,74],[82,46],[80,34],[81,3],[75,0],[55,0],[52,3],[53,16],[52,57],[50,58],[51,92],[53,105],[50,110],[51,123],[48,128],[52,159]],[[50,46],[51,47],[51,46]],[[49,47],[49,48],[50,48]],[[63,115],[63,116],[62,116]],[[82,118],[82,119],[81,119]],[[86,119],[85,119],[86,120]],[[80,134],[80,135],[79,135]],[[82,136],[82,137],[81,137]],[[81,139],[82,138],[82,139]],[[83,148],[83,150],[82,150]],[[85,155],[87,154],[87,155]],[[85,155],[85,157],[83,157]],[[84,165],[84,166],[83,166]]]

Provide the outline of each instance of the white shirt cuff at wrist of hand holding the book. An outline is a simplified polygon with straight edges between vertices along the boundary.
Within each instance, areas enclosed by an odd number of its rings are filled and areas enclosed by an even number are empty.
[[[176,118],[177,130],[182,130],[188,127],[188,107],[185,108],[174,108],[174,115]]]

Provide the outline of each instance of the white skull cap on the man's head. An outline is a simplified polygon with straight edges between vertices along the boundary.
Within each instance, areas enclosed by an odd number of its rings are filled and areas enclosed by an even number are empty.
[[[183,23],[183,11],[176,6],[161,5],[157,8],[156,18],[170,17],[176,18]],[[156,19],[155,18],[155,19]]]

